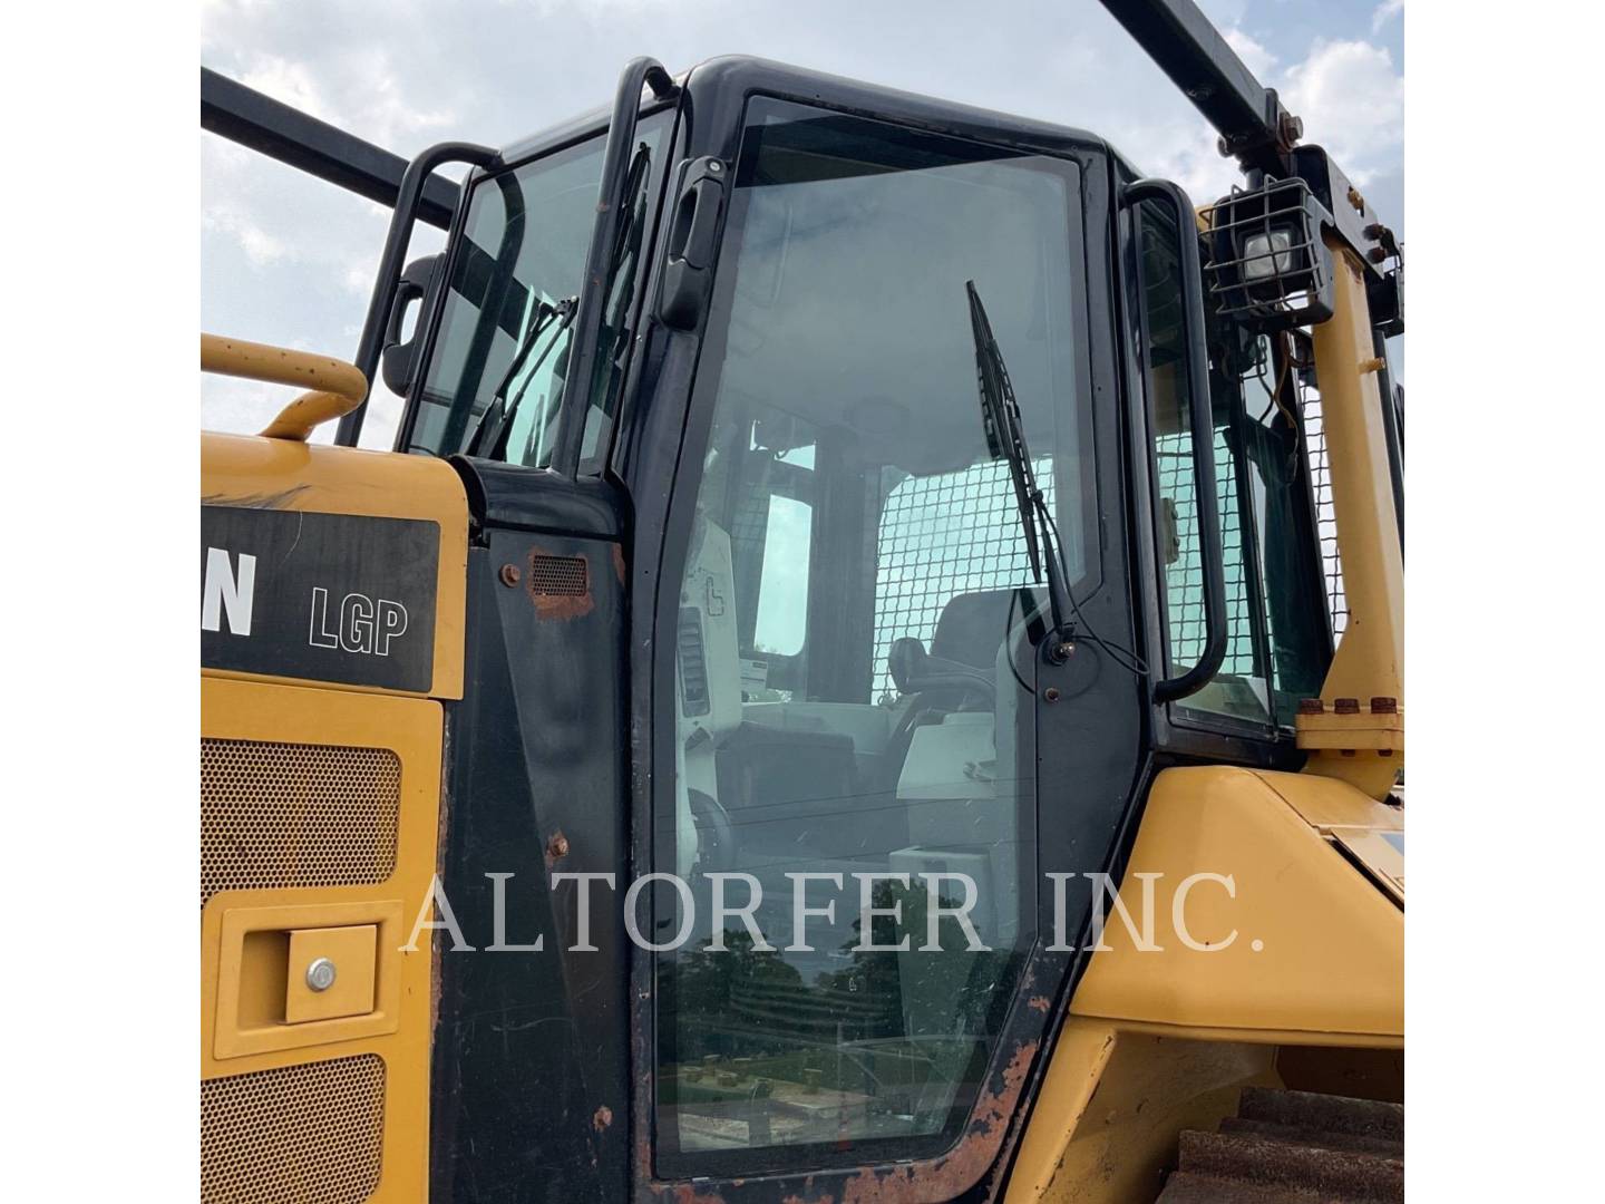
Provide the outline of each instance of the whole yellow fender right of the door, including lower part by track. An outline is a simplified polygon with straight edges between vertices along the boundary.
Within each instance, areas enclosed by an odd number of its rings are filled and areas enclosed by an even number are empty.
[[[1167,769],[1122,897],[1140,920],[1154,880],[1159,950],[1111,913],[1021,1138],[1010,1201],[1154,1199],[1183,1129],[1213,1129],[1247,1085],[1278,1085],[1289,1047],[1396,1050],[1404,1040],[1404,915],[1334,848],[1403,828],[1396,807],[1335,779],[1223,766]],[[1176,886],[1188,949],[1170,928]],[[1254,942],[1260,949],[1254,949]],[[1379,1055],[1364,1055],[1374,1058]],[[1387,1055],[1380,1055],[1387,1056]],[[1306,1058],[1308,1060],[1308,1058]],[[1340,1063],[1339,1063],[1340,1064]],[[1294,1085],[1294,1084],[1290,1084]]]

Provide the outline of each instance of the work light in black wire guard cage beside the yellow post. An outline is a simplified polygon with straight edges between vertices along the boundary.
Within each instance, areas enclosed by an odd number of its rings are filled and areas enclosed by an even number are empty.
[[[1332,316],[1332,254],[1321,228],[1332,215],[1303,180],[1233,188],[1204,210],[1209,222],[1205,279],[1221,316],[1258,331],[1286,331]]]

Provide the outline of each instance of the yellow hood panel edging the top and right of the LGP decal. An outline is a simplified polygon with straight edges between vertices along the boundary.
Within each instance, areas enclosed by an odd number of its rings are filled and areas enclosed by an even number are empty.
[[[258,435],[201,437],[201,502],[271,510],[424,519],[440,527],[435,671],[429,694],[462,697],[469,502],[449,464],[427,456],[329,448]],[[247,677],[247,674],[220,674]],[[294,681],[249,676],[250,681]],[[398,694],[380,687],[345,690]]]

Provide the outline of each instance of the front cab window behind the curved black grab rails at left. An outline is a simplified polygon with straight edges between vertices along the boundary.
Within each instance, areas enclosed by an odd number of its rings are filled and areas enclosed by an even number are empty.
[[[583,454],[592,469],[616,395],[613,344],[628,321],[663,128],[661,114],[637,127],[597,379],[586,387]],[[473,186],[406,451],[551,464],[603,149],[605,135],[597,135]]]

